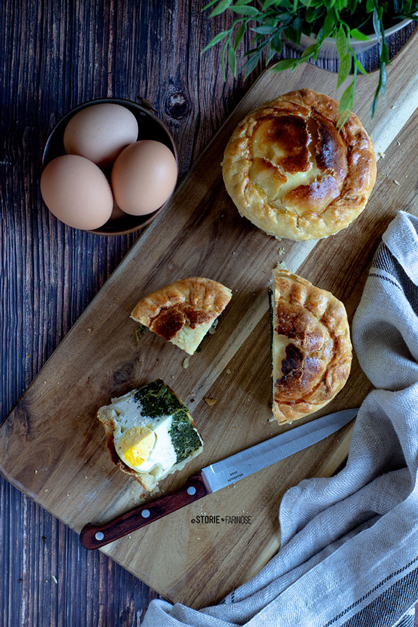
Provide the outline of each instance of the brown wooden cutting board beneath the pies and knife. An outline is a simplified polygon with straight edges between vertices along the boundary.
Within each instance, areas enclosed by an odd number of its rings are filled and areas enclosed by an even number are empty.
[[[378,154],[385,153],[418,106],[417,52],[414,37],[389,67],[387,98],[373,122],[369,107],[378,77],[357,78],[355,112]],[[95,419],[97,408],[112,396],[161,377],[191,408],[205,449],[164,482],[166,491],[204,465],[289,428],[268,421],[267,290],[277,261],[332,291],[353,318],[378,238],[396,210],[414,211],[412,205],[396,203],[405,186],[391,179],[405,183],[413,172],[408,154],[396,156],[392,145],[394,175],[387,159],[380,162],[366,210],[348,229],[318,244],[275,240],[241,218],[226,194],[220,167],[226,141],[249,110],[301,87],[335,97],[335,84],[334,74],[309,64],[295,72],[265,72],[258,79],[169,208],[134,245],[1,426],[1,472],[76,532],[143,498],[137,483],[111,464]],[[417,132],[417,125],[413,128]],[[416,139],[407,138],[412,150]],[[408,198],[415,193],[412,189]],[[232,289],[233,299],[186,369],[186,355],[178,348],[150,332],[137,340],[129,315],[139,297],[194,275],[221,281]],[[354,359],[346,387],[314,417],[359,405],[369,389]],[[207,397],[215,398],[215,405],[208,405]],[[284,491],[306,477],[335,472],[346,458],[350,435],[348,426],[103,550],[170,601],[193,607],[215,603],[255,575],[279,548]]]

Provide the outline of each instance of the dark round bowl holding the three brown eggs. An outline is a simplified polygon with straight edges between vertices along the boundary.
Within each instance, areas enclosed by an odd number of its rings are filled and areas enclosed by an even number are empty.
[[[176,157],[176,163],[178,164],[176,146],[167,126],[159,118],[157,118],[157,111],[155,111],[152,104],[150,104],[148,100],[145,100],[145,98],[138,98],[138,100],[139,102],[132,102],[131,100],[123,100],[122,98],[100,98],[98,100],[84,102],[83,104],[79,104],[78,107],[75,107],[75,109],[72,109],[72,111],[63,116],[63,118],[56,123],[52,131],[49,133],[49,137],[42,154],[42,169],[44,169],[50,161],[55,159],[55,157],[60,157],[61,155],[66,154],[63,137],[65,127],[70,121],[70,118],[78,113],[78,111],[81,111],[86,107],[91,107],[92,104],[102,104],[103,102],[121,104],[122,107],[129,109],[134,114],[135,118],[137,118],[139,129],[138,141],[140,139],[155,139],[156,141],[161,141],[162,144],[165,144],[168,148],[170,148],[174,157]],[[104,173],[109,178],[110,172],[105,171]],[[125,233],[139,231],[139,229],[142,229],[144,226],[147,226],[147,224],[153,222],[153,219],[157,217],[168,201],[169,199],[167,199],[164,205],[152,213],[148,213],[148,215],[127,215],[125,213],[122,217],[109,219],[108,222],[103,224],[103,226],[100,226],[99,229],[94,229],[94,231],[88,232],[95,233],[96,235],[123,235]]]

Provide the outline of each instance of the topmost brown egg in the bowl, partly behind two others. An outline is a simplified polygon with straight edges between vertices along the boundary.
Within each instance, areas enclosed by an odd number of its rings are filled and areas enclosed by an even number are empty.
[[[92,104],[73,116],[65,127],[64,148],[100,167],[109,167],[119,153],[138,139],[134,114],[121,104]]]

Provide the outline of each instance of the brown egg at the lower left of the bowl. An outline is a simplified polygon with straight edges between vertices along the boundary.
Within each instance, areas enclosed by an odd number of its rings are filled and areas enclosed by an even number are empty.
[[[93,162],[62,155],[47,164],[40,177],[45,205],[61,222],[91,231],[102,226],[114,206],[111,187]]]

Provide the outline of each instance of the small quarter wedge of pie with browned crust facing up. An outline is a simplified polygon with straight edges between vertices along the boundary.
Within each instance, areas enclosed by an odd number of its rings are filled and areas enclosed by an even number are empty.
[[[142,298],[131,318],[193,355],[231,296],[217,281],[190,277]]]

